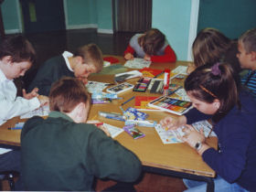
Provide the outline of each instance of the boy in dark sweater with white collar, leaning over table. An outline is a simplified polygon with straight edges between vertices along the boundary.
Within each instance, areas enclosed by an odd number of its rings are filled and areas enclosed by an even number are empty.
[[[60,78],[75,77],[85,84],[91,73],[101,71],[103,59],[101,49],[95,44],[82,46],[72,54],[64,51],[62,55],[48,59],[37,71],[28,91],[38,88],[38,93],[48,96],[52,83]]]

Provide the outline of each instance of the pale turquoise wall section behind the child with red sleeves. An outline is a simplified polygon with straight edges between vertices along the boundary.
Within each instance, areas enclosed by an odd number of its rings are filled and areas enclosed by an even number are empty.
[[[178,60],[187,60],[192,0],[153,0],[152,27],[160,29]]]

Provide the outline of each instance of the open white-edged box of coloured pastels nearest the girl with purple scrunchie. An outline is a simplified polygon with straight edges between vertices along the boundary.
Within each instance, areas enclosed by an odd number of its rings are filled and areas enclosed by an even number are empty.
[[[149,102],[148,106],[165,112],[182,115],[192,108],[192,103],[190,101],[176,100],[168,95],[164,95]]]

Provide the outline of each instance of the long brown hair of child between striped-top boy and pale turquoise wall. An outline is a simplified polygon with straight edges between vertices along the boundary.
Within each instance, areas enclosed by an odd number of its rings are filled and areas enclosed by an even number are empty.
[[[193,42],[192,50],[196,67],[206,63],[216,63],[224,57],[231,46],[229,37],[215,28],[202,29]]]

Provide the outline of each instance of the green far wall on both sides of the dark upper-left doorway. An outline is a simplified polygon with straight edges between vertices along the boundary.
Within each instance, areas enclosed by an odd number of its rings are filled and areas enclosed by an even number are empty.
[[[112,0],[63,0],[63,2],[67,29],[98,27],[99,31],[112,32]],[[6,33],[17,33],[22,30],[19,25],[19,20],[22,19],[17,7],[19,7],[18,0],[5,0],[2,5]]]

